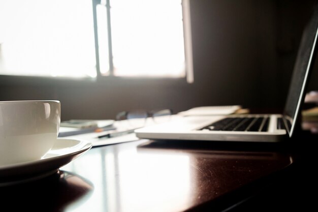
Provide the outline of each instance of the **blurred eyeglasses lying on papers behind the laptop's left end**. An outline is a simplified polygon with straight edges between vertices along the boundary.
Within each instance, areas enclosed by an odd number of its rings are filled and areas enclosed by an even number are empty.
[[[129,125],[129,128],[141,128],[146,125],[149,121],[149,124],[158,124],[167,122],[170,120],[172,115],[171,109],[163,110],[131,110],[131,111],[121,111],[117,113],[116,120],[120,121],[121,125]],[[150,119],[149,119],[150,118]],[[148,124],[148,123],[147,123]]]

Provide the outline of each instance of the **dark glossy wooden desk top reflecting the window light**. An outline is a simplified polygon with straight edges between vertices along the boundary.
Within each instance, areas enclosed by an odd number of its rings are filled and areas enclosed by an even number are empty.
[[[313,176],[306,176],[312,167],[303,166],[306,154],[294,153],[307,148],[294,147],[148,140],[93,147],[56,174],[0,188],[1,211],[286,209],[284,201],[305,201],[308,194],[298,192],[312,185]]]

